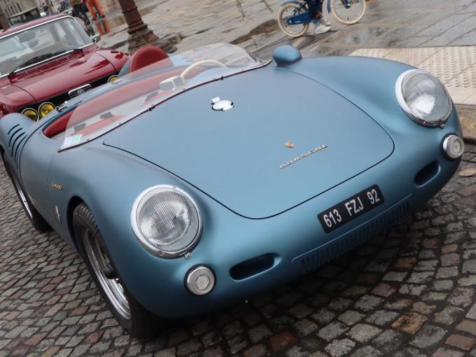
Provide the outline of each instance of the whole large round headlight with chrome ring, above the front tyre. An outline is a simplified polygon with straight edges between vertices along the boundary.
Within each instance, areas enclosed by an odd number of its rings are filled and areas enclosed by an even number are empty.
[[[148,251],[176,258],[190,251],[202,233],[202,218],[192,197],[175,186],[154,186],[137,197],[132,230]]]

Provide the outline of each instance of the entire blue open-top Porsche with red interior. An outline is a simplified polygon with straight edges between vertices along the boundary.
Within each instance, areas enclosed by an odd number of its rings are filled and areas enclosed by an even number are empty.
[[[290,46],[144,48],[38,122],[0,120],[29,220],[78,250],[137,336],[357,246],[435,195],[463,147],[429,73]]]

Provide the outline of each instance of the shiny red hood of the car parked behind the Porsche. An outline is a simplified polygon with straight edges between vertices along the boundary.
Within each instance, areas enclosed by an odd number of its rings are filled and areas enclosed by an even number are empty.
[[[116,68],[98,52],[76,51],[20,71],[10,82],[41,102],[113,72]]]

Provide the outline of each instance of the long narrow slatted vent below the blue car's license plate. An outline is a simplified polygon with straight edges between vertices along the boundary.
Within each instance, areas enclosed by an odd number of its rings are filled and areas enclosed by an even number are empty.
[[[309,253],[294,258],[293,265],[298,265],[298,268],[301,269],[303,273],[321,267],[321,265],[324,265],[326,262],[362,244],[373,235],[383,232],[390,225],[398,222],[408,211],[408,201],[402,201],[349,234],[320,246]]]

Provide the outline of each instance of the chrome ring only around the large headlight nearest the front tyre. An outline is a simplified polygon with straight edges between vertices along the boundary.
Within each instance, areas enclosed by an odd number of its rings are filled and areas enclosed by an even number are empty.
[[[195,237],[193,237],[193,239],[190,241],[190,243],[187,246],[185,246],[184,248],[181,248],[178,251],[165,251],[156,246],[153,246],[148,241],[148,239],[146,239],[146,237],[142,235],[141,230],[139,230],[139,225],[137,224],[137,210],[139,209],[139,204],[141,203],[142,200],[144,200],[144,197],[146,197],[147,195],[151,194],[153,191],[158,189],[172,190],[186,197],[186,199],[190,201],[193,209],[195,209],[195,212],[198,217],[198,222],[197,222],[198,227],[197,227],[197,233],[195,234]],[[198,207],[197,202],[195,202],[193,197],[190,196],[188,193],[186,193],[185,190],[182,190],[181,188],[178,188],[173,185],[155,185],[155,186],[146,188],[144,191],[142,191],[139,194],[139,196],[137,196],[136,200],[134,201],[134,204],[132,204],[131,225],[132,225],[132,231],[134,232],[134,235],[139,240],[139,243],[142,246],[144,246],[144,248],[146,248],[146,250],[149,253],[152,253],[153,255],[157,255],[160,258],[167,258],[167,259],[179,258],[182,255],[185,255],[186,253],[189,253],[190,251],[192,251],[193,248],[197,246],[198,242],[200,241],[200,238],[202,237],[202,213],[200,211],[200,208]]]

